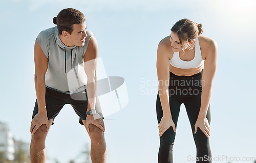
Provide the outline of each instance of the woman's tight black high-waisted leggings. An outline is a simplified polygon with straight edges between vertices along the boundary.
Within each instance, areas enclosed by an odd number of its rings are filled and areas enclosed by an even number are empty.
[[[209,139],[198,128],[197,133],[195,131],[195,123],[198,118],[198,114],[201,106],[201,93],[202,93],[202,74],[201,71],[198,74],[192,76],[177,76],[170,72],[169,79],[169,105],[172,119],[177,128],[177,121],[180,113],[180,105],[184,103],[186,107],[187,116],[193,132],[194,141],[197,147],[197,162],[211,162],[211,151],[209,146]],[[158,124],[163,117],[163,110],[159,94],[157,95],[156,102],[157,120]],[[207,116],[210,123],[210,106],[208,107]],[[158,153],[159,163],[172,163],[173,162],[173,145],[175,140],[175,132],[173,128],[168,128],[160,137],[160,148]]]

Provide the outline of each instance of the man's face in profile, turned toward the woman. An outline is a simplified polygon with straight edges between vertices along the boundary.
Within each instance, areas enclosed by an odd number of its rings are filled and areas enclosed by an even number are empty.
[[[81,24],[73,24],[73,32],[69,35],[69,45],[72,46],[83,46],[86,41],[86,29],[87,25],[84,21]]]

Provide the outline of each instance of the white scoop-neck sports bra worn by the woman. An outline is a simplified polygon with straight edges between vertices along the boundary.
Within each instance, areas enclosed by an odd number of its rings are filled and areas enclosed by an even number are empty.
[[[202,58],[200,45],[198,38],[195,39],[196,46],[195,46],[195,57],[191,61],[183,61],[180,59],[179,52],[174,52],[173,58],[170,59],[170,64],[177,68],[189,69],[189,68],[197,68],[204,63]]]

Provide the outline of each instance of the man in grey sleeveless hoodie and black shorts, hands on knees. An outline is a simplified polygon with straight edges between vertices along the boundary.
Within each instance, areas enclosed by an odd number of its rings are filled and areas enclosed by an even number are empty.
[[[86,30],[86,18],[75,9],[63,9],[42,31],[34,46],[36,102],[31,122],[31,162],[45,162],[45,140],[54,118],[71,104],[91,139],[92,162],[106,161],[104,122],[96,98],[98,45]],[[81,69],[82,67],[82,69]],[[84,89],[86,88],[87,89]]]

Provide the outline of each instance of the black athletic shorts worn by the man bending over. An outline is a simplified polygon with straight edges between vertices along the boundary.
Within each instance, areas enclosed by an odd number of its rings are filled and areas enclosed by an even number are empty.
[[[81,91],[74,94],[66,94],[62,92],[58,92],[46,87],[46,110],[48,119],[53,119],[59,114],[61,108],[65,104],[71,104],[74,108],[76,114],[79,116],[79,123],[83,125],[82,120],[86,120],[87,117],[87,92]],[[101,114],[101,107],[99,104],[99,99],[96,99],[95,105],[96,112],[103,118]],[[100,113],[99,113],[100,112]],[[35,101],[35,107],[32,115],[32,119],[38,113],[38,104],[37,99]],[[53,124],[53,123],[52,123]]]

